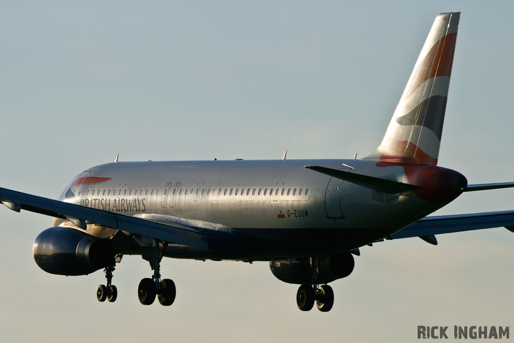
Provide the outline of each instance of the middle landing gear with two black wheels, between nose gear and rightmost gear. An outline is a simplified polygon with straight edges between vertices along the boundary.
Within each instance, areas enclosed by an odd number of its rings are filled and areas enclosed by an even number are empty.
[[[155,242],[155,255],[154,259],[149,259],[152,269],[154,269],[154,275],[152,278],[144,278],[139,282],[137,295],[139,302],[143,305],[151,305],[155,297],[159,299],[159,302],[163,306],[170,306],[175,301],[177,294],[175,283],[170,279],[160,278],[160,261],[164,256],[164,251],[168,247],[168,243],[163,243],[162,248],[159,251],[160,242]],[[146,258],[145,258],[146,259]]]

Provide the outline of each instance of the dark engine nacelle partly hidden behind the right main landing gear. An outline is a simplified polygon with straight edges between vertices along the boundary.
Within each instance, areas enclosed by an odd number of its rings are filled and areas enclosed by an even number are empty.
[[[352,274],[355,261],[350,252],[318,257],[318,282],[328,283]],[[309,259],[294,258],[269,262],[271,273],[287,283],[310,284],[313,278]]]

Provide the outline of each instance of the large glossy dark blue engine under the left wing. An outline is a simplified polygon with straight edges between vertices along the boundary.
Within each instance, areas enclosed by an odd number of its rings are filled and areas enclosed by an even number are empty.
[[[57,275],[87,275],[113,262],[115,251],[107,239],[65,227],[51,227],[35,239],[35,263]]]

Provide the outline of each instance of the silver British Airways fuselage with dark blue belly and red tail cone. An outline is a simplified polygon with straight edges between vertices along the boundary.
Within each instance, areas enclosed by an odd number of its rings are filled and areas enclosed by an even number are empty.
[[[420,190],[379,193],[303,168],[308,165]],[[354,159],[124,162],[85,170],[60,200],[200,223],[195,226],[208,233],[211,251],[175,246],[170,257],[270,260],[336,254],[387,237],[458,196],[458,177],[435,166]]]

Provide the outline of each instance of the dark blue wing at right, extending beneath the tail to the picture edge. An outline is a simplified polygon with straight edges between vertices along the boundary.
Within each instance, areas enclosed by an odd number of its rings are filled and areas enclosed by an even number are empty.
[[[391,234],[387,239],[419,237],[437,244],[436,234],[506,227],[514,230],[514,211],[429,216]]]

